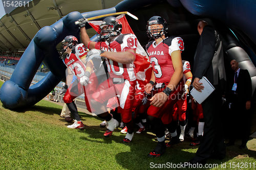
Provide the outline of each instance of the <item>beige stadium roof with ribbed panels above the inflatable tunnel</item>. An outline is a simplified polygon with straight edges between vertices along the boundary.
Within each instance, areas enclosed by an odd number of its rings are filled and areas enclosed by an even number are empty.
[[[114,7],[121,0],[33,0],[0,19],[0,51],[23,52],[42,27],[50,26],[68,13]],[[1,17],[1,16],[0,16]],[[89,36],[95,34],[93,29]]]

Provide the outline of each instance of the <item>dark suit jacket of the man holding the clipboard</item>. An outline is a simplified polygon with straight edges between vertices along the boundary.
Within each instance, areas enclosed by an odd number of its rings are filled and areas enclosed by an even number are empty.
[[[222,42],[216,30],[208,25],[200,36],[193,66],[193,79],[203,76],[213,85],[226,80]]]

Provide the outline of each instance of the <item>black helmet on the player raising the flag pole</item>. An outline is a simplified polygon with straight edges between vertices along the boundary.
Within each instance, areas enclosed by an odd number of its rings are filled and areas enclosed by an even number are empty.
[[[103,19],[97,32],[100,41],[108,41],[110,37],[121,34],[122,23],[114,16],[108,16]]]

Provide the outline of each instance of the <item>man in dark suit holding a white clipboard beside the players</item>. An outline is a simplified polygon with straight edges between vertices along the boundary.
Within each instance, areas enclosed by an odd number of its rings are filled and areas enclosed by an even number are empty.
[[[220,35],[206,21],[199,21],[200,39],[194,57],[193,86],[201,91],[204,86],[199,80],[205,76],[215,90],[202,103],[204,115],[204,135],[196,156],[191,164],[205,163],[208,158],[223,159],[226,156],[220,108],[222,104],[221,82],[226,80],[223,47]]]

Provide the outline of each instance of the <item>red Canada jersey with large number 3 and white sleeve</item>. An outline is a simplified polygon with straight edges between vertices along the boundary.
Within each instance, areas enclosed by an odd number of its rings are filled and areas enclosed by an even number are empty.
[[[169,82],[174,74],[171,54],[177,50],[184,50],[182,38],[167,37],[159,44],[156,44],[156,41],[151,41],[147,44],[146,50],[154,70],[156,83]]]

